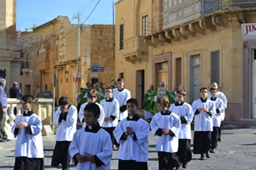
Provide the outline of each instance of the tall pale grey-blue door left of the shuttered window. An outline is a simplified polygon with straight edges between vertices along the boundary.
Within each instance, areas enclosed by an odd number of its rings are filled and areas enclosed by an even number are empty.
[[[190,103],[200,98],[201,66],[200,55],[190,56]]]

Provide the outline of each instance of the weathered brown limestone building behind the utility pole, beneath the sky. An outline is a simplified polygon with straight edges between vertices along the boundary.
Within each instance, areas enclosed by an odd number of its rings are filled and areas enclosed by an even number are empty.
[[[22,88],[24,93],[36,95],[38,91],[53,91],[53,75],[56,74],[56,99],[67,96],[76,104],[77,83],[77,25],[67,16],[34,26],[22,33],[20,52],[23,54]],[[82,25],[80,33],[79,68],[81,83],[91,82],[91,66],[103,67],[103,72],[94,72],[93,81],[107,84],[114,77],[112,25]],[[113,44],[113,43],[112,43]],[[97,70],[96,70],[97,71]],[[102,76],[102,75],[109,76]]]

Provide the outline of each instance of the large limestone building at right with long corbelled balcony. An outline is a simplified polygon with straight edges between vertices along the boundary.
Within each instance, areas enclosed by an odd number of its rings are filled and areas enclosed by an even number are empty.
[[[142,16],[134,12],[142,8],[136,2],[148,4],[143,5],[146,11],[142,14],[148,17],[146,27],[139,25],[142,18],[124,17]],[[143,28],[141,32],[146,32],[143,37],[148,53],[144,66],[152,68],[147,68],[145,86],[150,82],[157,85],[159,80],[167,82],[169,90],[178,85],[187,90],[186,102],[191,103],[199,98],[201,87],[210,87],[210,82],[215,81],[228,99],[225,120],[253,121],[255,37],[242,38],[242,32],[253,34],[256,30],[255,7],[256,1],[242,0],[120,0],[116,3],[116,30],[123,24],[123,44],[129,40],[131,31]],[[244,23],[247,25],[242,27]],[[120,35],[117,31],[116,44],[121,43]],[[136,58],[133,55],[125,60],[128,49],[127,45],[119,51],[116,47],[116,70],[121,72],[117,62],[125,65],[124,77],[133,77],[129,87],[136,97],[137,74],[130,65],[137,66],[139,62],[129,61]]]

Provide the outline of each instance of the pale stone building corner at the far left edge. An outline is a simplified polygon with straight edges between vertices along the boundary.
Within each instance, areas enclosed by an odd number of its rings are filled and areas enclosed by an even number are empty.
[[[20,82],[20,59],[16,47],[16,0],[0,1],[0,78],[7,80],[6,92]]]

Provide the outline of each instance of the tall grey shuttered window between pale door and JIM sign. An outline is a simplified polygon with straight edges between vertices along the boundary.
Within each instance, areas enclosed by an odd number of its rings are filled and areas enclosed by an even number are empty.
[[[211,82],[220,83],[220,59],[219,59],[219,51],[210,53],[210,76]]]

